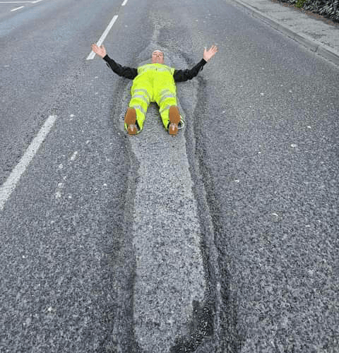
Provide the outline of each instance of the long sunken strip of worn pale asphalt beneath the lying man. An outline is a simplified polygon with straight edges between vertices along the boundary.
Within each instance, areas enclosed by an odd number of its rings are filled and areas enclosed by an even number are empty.
[[[143,61],[153,46],[145,48],[138,60]],[[168,66],[184,64],[183,59],[161,49]],[[128,107],[130,89],[131,83],[124,90],[126,99],[117,107],[120,116]],[[196,102],[194,85],[188,90]],[[179,99],[178,106],[184,119]],[[124,130],[123,118],[119,128]],[[213,338],[215,283],[211,287],[210,280],[215,280],[215,268],[210,268],[208,259],[215,249],[202,246],[210,243],[213,234],[205,237],[206,229],[210,228],[207,234],[212,230],[208,215],[201,225],[190,171],[195,167],[188,160],[184,131],[182,126],[177,136],[170,136],[162,125],[159,107],[151,103],[143,131],[127,136],[126,141],[131,173],[125,234],[128,253],[135,258],[130,309],[134,347],[129,349],[138,347],[140,352],[194,352],[203,340]],[[115,327],[121,330],[124,325]],[[120,342],[120,347],[123,345]]]

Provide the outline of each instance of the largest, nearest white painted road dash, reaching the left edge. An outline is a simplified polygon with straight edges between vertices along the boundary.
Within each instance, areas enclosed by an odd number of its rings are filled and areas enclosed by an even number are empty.
[[[4,208],[7,199],[9,198],[9,196],[11,196],[11,193],[15,189],[16,184],[18,183],[21,175],[23,174],[23,172],[25,172],[25,169],[28,167],[28,164],[30,164],[30,161],[35,156],[37,150],[39,150],[40,145],[51,130],[56,119],[56,115],[50,115],[48,117],[48,119],[44,122],[42,128],[40,128],[40,131],[37,133],[37,136],[35,136],[35,138],[28,146],[28,149],[26,150],[23,157],[21,157],[20,162],[18,162],[18,164],[13,169],[4,184],[0,186],[0,210]]]

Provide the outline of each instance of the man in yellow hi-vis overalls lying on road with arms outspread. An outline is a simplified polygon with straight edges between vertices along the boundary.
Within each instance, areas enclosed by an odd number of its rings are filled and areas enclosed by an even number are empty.
[[[204,50],[203,59],[191,70],[176,70],[164,63],[164,53],[155,50],[152,54],[152,64],[145,64],[138,68],[121,66],[111,59],[103,45],[92,44],[95,54],[102,57],[107,65],[117,75],[133,80],[131,87],[131,101],[125,114],[125,129],[130,135],[143,129],[145,114],[150,102],[156,102],[159,106],[162,124],[170,135],[177,135],[178,124],[181,120],[179,108],[177,107],[176,82],[191,80],[198,71],[203,69],[210,58],[218,52],[218,47],[213,45]]]

